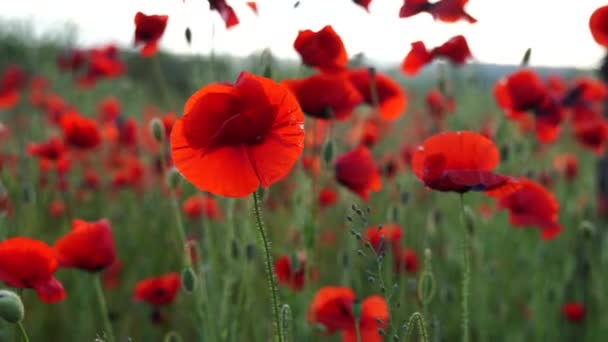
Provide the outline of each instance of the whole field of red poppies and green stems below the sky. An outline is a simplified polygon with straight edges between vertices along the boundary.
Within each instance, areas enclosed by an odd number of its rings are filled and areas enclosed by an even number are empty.
[[[608,54],[490,75],[455,31],[383,68],[328,24],[297,62],[175,56],[182,24],[132,20],[0,26],[0,341],[605,340]],[[585,24],[608,48],[608,5]]]

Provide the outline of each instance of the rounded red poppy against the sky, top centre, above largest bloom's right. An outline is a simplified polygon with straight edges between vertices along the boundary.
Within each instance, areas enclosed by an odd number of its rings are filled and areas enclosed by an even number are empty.
[[[348,56],[344,43],[331,25],[320,31],[300,31],[293,43],[302,63],[322,71],[336,71],[346,67]]]

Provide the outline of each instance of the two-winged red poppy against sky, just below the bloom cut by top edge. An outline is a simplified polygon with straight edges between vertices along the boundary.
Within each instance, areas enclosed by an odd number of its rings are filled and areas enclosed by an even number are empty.
[[[463,65],[472,55],[464,36],[452,37],[430,51],[423,42],[417,41],[412,43],[412,49],[401,63],[401,70],[406,75],[416,75],[425,65],[438,58],[446,59],[455,65]]]

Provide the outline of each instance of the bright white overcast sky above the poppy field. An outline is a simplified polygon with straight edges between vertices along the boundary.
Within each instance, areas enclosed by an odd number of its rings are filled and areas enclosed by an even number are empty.
[[[470,0],[467,11],[476,24],[434,22],[428,14],[400,19],[403,0],[374,0],[365,12],[351,0],[259,0],[255,16],[245,0],[228,0],[241,23],[226,30],[207,0],[1,0],[1,19],[26,19],[37,34],[64,27],[79,28],[78,43],[90,46],[115,42],[130,46],[133,17],[137,11],[167,14],[169,23],[161,48],[177,53],[191,50],[184,39],[186,27],[193,33],[197,53],[246,56],[265,47],[282,58],[296,59],[293,41],[298,30],[318,30],[331,24],[341,35],[349,55],[359,52],[373,60],[401,62],[416,40],[427,46],[441,44],[462,34],[478,61],[519,63],[533,48],[534,66],[593,67],[604,51],[589,33],[591,13],[606,0]],[[212,40],[212,27],[215,39]]]

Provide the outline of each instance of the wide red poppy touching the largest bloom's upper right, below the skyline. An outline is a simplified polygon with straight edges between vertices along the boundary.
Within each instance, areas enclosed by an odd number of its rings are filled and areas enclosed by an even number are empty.
[[[318,74],[304,79],[284,80],[296,96],[302,111],[318,119],[345,120],[363,98],[344,75]]]

